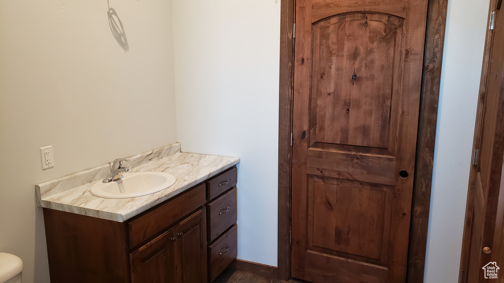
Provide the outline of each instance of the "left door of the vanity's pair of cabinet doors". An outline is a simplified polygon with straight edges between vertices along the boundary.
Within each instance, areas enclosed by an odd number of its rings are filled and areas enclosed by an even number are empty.
[[[167,231],[130,255],[132,283],[175,282],[173,230]]]

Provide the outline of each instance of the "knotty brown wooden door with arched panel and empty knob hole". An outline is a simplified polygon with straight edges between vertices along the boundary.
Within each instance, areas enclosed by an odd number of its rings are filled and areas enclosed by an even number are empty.
[[[292,276],[406,278],[427,0],[297,0]]]

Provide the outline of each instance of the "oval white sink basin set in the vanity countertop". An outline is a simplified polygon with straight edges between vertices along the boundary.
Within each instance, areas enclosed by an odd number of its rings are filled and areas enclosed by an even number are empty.
[[[164,190],[175,183],[175,177],[164,172],[123,173],[123,178],[91,187],[91,194],[103,198],[128,198]]]

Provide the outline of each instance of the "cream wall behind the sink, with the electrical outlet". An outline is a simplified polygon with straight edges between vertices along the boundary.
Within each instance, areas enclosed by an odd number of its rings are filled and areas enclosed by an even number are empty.
[[[176,142],[170,0],[0,1],[0,252],[49,282],[34,185]],[[39,148],[53,146],[42,171]]]

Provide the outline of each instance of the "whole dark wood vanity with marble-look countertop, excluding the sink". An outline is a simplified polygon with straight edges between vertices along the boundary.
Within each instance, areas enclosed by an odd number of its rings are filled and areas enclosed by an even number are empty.
[[[138,170],[169,172],[175,184],[142,197],[102,199],[89,194],[104,174],[97,172],[106,172],[96,168],[36,186],[52,283],[206,283],[236,258],[239,159],[176,150],[143,155],[130,158]]]

